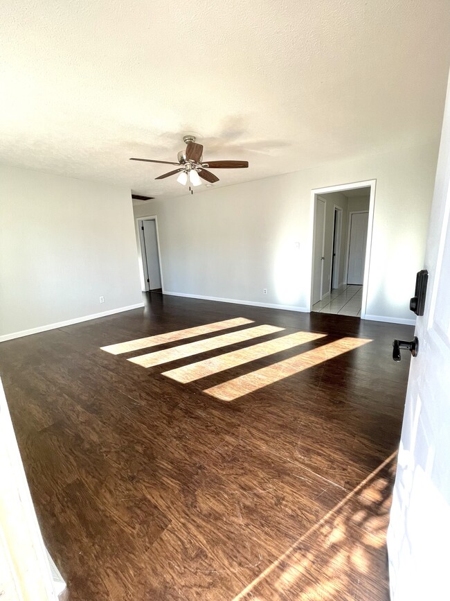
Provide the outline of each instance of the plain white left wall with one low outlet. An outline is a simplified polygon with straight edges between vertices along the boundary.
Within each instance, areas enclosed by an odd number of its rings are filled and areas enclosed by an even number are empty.
[[[129,189],[0,166],[0,340],[141,302]]]

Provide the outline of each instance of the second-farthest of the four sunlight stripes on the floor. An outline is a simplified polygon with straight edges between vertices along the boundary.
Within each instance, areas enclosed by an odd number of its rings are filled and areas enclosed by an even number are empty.
[[[237,342],[245,342],[252,338],[258,338],[258,336],[267,336],[267,334],[273,334],[274,332],[280,332],[282,330],[284,330],[284,328],[278,328],[276,326],[255,326],[254,328],[222,334],[222,336],[206,338],[206,340],[189,342],[188,345],[172,347],[171,349],[148,353],[128,360],[132,361],[132,363],[142,365],[143,367],[153,367],[154,365],[168,363],[169,361],[174,361],[176,359],[183,359],[206,351],[214,351],[215,349],[220,349],[228,345],[235,345]]]

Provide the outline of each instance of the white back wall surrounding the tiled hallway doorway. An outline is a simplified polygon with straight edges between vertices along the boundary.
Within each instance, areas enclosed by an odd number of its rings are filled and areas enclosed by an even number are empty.
[[[408,304],[415,273],[423,265],[437,153],[438,141],[202,193],[196,190],[194,195],[139,205],[135,216],[158,216],[166,293],[306,311],[312,189],[376,179],[366,313],[412,320]],[[219,175],[225,179],[226,171]]]

